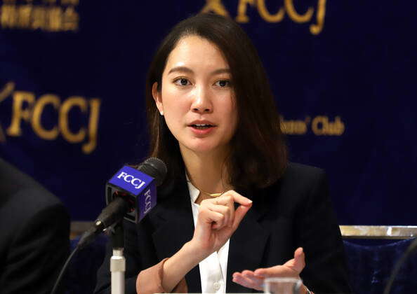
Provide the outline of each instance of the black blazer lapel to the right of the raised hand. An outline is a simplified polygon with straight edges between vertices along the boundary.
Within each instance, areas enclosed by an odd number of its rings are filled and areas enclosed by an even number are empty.
[[[248,293],[253,290],[245,288],[232,281],[234,272],[242,272],[244,269],[254,270],[260,267],[268,232],[258,223],[265,214],[267,203],[264,195],[242,194],[253,200],[253,205],[241,221],[239,228],[230,238],[229,255],[227,259],[227,293]]]

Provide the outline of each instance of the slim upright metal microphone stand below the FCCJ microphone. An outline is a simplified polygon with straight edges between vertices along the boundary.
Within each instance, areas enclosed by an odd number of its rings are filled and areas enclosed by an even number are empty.
[[[113,256],[110,258],[110,272],[112,274],[112,294],[124,294],[124,272],[126,272],[126,258],[124,258],[123,221],[119,221],[110,230],[112,238]]]

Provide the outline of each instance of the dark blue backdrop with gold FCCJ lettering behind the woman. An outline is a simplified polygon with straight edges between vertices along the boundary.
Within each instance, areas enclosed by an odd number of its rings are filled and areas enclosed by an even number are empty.
[[[340,224],[416,225],[417,4],[326,0],[0,1],[0,156],[93,220],[147,154],[144,82],[201,11],[253,39],[291,160],[326,169]]]

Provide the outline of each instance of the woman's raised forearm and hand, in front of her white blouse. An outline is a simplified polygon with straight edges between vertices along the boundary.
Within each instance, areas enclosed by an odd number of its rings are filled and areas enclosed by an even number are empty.
[[[234,202],[240,204],[234,209]],[[252,201],[230,190],[214,199],[203,200],[199,217],[190,241],[164,263],[162,287],[171,292],[190,270],[218,251],[239,226]],[[136,281],[136,290],[140,285]]]

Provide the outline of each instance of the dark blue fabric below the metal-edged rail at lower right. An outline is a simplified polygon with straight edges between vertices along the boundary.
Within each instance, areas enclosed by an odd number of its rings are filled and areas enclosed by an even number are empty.
[[[381,294],[392,269],[414,239],[380,246],[363,246],[344,241],[350,281],[356,294]],[[399,270],[391,294],[417,293],[417,256],[409,256]]]

